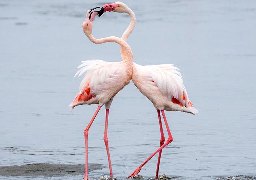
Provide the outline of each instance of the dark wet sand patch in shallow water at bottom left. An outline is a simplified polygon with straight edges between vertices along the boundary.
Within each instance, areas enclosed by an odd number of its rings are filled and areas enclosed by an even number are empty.
[[[88,171],[102,169],[101,164],[89,164]],[[0,176],[66,176],[79,175],[84,172],[84,165],[80,164],[50,164],[36,163],[22,166],[1,166]]]

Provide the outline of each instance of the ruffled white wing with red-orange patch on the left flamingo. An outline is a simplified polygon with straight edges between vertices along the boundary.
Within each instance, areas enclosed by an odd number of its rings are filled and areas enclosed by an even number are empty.
[[[102,60],[82,61],[75,76],[85,75],[79,93],[71,107],[82,104],[102,93],[114,92],[124,73],[120,62],[105,62]],[[111,89],[111,91],[110,91]],[[117,91],[117,90],[116,90]]]

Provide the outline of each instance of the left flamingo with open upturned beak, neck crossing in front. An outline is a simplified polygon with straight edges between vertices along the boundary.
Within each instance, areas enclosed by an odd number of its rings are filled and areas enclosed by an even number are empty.
[[[99,7],[97,7],[99,8]],[[114,36],[95,39],[92,35],[93,20],[97,11],[92,12],[96,8],[87,11],[85,22],[83,22],[83,31],[85,35],[94,43],[101,44],[105,42],[116,42],[124,48],[127,54],[126,58],[121,62],[106,62],[102,60],[91,60],[82,61],[82,64],[78,66],[81,68],[75,74],[75,76],[81,76],[85,74],[80,87],[79,93],[76,95],[73,102],[69,105],[73,110],[75,106],[82,104],[98,104],[98,108],[94,113],[91,121],[84,130],[85,138],[85,172],[84,179],[88,180],[88,132],[89,129],[97,116],[99,110],[103,105],[106,107],[106,119],[105,119],[105,130],[104,130],[104,142],[107,150],[108,163],[110,177],[113,177],[110,154],[108,148],[108,114],[109,108],[115,95],[123,89],[124,86],[129,84],[132,76],[132,63],[133,54],[130,46],[122,39]]]

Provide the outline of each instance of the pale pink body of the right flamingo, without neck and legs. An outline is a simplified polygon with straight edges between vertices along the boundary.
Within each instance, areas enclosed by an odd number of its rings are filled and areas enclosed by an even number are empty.
[[[141,66],[133,63],[132,81],[156,109],[196,114],[179,69],[172,64]]]

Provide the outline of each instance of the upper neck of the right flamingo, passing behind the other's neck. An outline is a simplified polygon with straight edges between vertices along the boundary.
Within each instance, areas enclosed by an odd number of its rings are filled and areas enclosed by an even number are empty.
[[[135,24],[136,24],[136,17],[135,17],[134,12],[130,8],[127,7],[126,13],[130,15],[131,22],[130,22],[129,26],[127,27],[127,29],[124,31],[123,35],[122,35],[122,39],[124,41],[127,41],[128,37],[132,33],[132,31],[135,27]],[[120,46],[120,53],[121,53],[122,59],[125,59],[126,56],[127,56],[127,53],[126,53],[125,49],[122,46]]]

